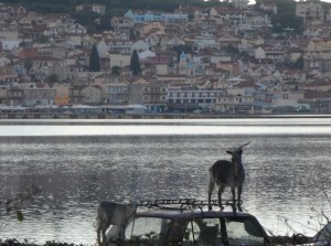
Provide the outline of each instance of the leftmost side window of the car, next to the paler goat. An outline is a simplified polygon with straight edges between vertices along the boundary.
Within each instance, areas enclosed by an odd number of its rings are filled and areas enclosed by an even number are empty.
[[[170,224],[171,220],[169,218],[137,217],[128,224],[125,239],[146,242],[147,245],[150,245],[152,242],[162,242],[169,232]]]

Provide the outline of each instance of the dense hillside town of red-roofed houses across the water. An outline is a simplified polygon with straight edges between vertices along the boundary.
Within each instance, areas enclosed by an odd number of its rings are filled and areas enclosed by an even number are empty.
[[[89,34],[67,13],[0,3],[0,110],[116,108],[143,113],[331,111],[331,11],[299,1],[302,34],[274,33],[274,2],[129,9]],[[103,4],[79,4],[105,14]],[[96,20],[97,21],[97,20]],[[92,69],[94,49],[97,69]],[[138,55],[138,71],[134,57]]]

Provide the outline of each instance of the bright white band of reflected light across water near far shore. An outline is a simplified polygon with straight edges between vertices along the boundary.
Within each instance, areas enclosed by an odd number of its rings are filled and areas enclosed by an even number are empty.
[[[183,135],[330,135],[330,126],[1,126],[2,137],[183,136]]]

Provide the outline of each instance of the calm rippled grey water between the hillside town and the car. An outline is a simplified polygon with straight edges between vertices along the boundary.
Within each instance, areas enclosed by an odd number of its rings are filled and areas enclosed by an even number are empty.
[[[245,211],[275,234],[313,235],[331,216],[328,118],[2,120],[0,136],[0,196],[43,190],[22,223],[1,211],[0,238],[93,245],[98,201],[205,200],[209,167],[248,140]]]

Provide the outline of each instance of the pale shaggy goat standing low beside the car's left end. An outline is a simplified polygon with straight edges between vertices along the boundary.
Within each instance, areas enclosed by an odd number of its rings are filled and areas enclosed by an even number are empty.
[[[110,225],[118,225],[119,233],[124,231],[125,224],[136,213],[134,204],[118,204],[114,202],[100,202],[97,207],[96,231],[97,243],[99,246],[107,245],[106,231]],[[100,242],[100,233],[103,234],[103,243]],[[120,235],[121,236],[121,235]]]

